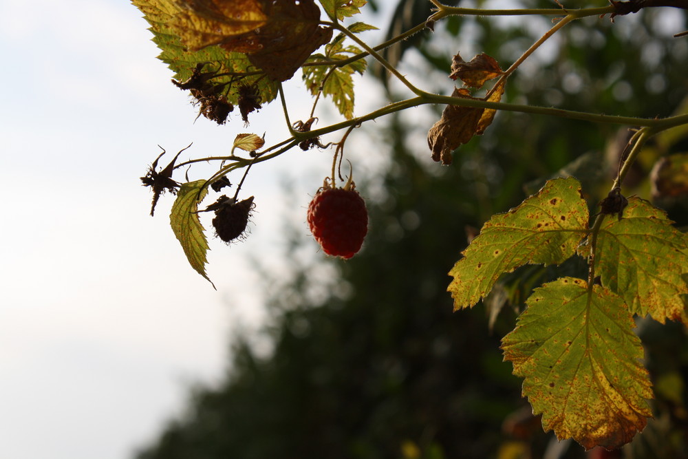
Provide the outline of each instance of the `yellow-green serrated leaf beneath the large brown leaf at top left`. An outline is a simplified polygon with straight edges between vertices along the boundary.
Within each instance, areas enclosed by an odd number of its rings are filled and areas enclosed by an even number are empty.
[[[189,50],[178,33],[170,27],[175,15],[180,12],[175,3],[169,0],[132,0],[132,3],[144,13],[144,19],[151,25],[149,30],[153,33],[153,42],[162,50],[158,58],[169,65],[176,80],[188,80],[196,65],[207,63],[204,71],[217,71],[218,74],[248,73],[248,76],[241,78],[241,83],[255,85],[262,103],[269,103],[277,97],[279,83],[270,78],[261,78],[264,75],[255,72],[255,65],[250,63],[246,54],[229,52],[218,45],[197,51]],[[213,78],[213,81],[218,84],[229,83],[232,78],[235,76],[225,75]],[[239,103],[239,85],[229,85],[226,95],[230,103]]]

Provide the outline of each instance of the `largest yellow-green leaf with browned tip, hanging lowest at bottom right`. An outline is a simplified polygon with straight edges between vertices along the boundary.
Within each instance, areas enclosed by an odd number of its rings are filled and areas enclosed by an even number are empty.
[[[525,378],[523,395],[544,429],[586,449],[629,442],[652,416],[645,400],[652,384],[623,299],[563,277],[537,288],[527,303],[502,350]]]

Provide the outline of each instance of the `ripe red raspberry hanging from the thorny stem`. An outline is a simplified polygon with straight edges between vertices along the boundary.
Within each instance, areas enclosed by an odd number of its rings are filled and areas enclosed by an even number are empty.
[[[368,232],[368,211],[354,189],[325,188],[308,206],[308,226],[327,255],[351,258]]]

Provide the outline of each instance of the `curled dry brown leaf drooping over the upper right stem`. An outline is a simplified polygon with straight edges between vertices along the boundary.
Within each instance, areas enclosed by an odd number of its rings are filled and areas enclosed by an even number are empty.
[[[499,102],[504,94],[504,82],[499,83],[493,90],[481,100]],[[452,97],[469,98],[469,90],[454,88]],[[442,164],[451,164],[451,153],[468,143],[473,136],[481,136],[485,129],[492,124],[495,118],[495,109],[482,109],[477,107],[461,107],[459,105],[447,105],[442,111],[442,117],[428,131],[428,147],[432,151],[435,161]]]

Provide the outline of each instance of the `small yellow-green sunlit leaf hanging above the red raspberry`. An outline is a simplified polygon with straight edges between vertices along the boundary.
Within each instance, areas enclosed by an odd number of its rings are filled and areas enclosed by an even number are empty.
[[[325,45],[324,56],[323,54],[313,54],[307,62],[341,61],[350,57],[347,54],[355,56],[359,53],[361,50],[358,47],[354,45],[345,47],[343,36],[336,36],[332,43]],[[364,59],[358,59],[358,61],[341,67],[332,67],[332,65],[326,64],[307,65],[303,67],[303,80],[314,96],[318,94],[322,85],[323,94],[332,98],[332,102],[339,113],[350,120],[354,117],[354,79],[352,75],[354,72],[363,74],[365,67]]]

